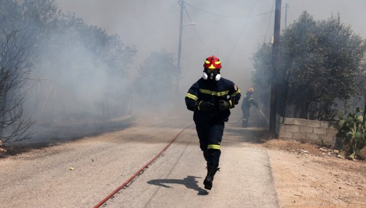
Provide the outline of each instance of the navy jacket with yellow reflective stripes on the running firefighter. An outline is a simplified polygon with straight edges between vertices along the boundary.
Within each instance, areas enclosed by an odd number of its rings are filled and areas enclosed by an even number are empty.
[[[219,81],[199,79],[189,88],[185,96],[185,104],[189,110],[194,111],[193,120],[196,125],[220,124],[229,120],[230,110],[240,99],[240,90],[228,79],[221,78]],[[219,110],[220,100],[227,101],[228,109]],[[215,104],[213,110],[203,111],[200,109],[201,102],[211,101]]]

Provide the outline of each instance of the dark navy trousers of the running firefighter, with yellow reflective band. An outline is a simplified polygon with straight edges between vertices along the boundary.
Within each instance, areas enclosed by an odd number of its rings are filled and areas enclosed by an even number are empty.
[[[221,156],[220,145],[223,139],[224,128],[224,122],[212,125],[196,125],[199,146],[209,166],[219,167]]]

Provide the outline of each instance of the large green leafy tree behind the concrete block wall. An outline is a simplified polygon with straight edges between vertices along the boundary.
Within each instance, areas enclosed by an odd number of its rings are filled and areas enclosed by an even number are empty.
[[[309,118],[312,103],[320,103],[316,118],[329,114],[336,98],[347,100],[360,93],[359,82],[366,44],[339,14],[316,21],[304,11],[280,37],[277,81],[287,82],[287,103],[295,116]],[[263,44],[254,53],[253,83],[270,91],[272,46]],[[314,117],[313,117],[314,118]]]

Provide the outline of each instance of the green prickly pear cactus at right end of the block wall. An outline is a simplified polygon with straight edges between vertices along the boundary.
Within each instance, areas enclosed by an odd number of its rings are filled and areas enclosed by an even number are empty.
[[[360,108],[356,112],[349,113],[344,117],[344,113],[339,115],[337,137],[342,138],[343,143],[350,145],[349,158],[355,159],[360,155],[360,151],[365,147],[366,122],[363,115],[360,115]]]

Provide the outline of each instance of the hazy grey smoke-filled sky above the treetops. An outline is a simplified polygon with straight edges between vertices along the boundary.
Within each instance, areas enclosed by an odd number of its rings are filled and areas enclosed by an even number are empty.
[[[240,89],[251,87],[251,57],[270,41],[274,30],[274,0],[184,0],[180,94],[202,75],[206,57],[222,60],[221,74]],[[85,23],[118,34],[137,47],[130,76],[151,52],[165,49],[178,55],[180,5],[178,0],[56,0],[63,12],[75,12]],[[316,20],[340,13],[356,34],[366,38],[366,0],[282,0],[288,4],[287,25],[307,10]],[[186,14],[186,12],[189,15]],[[247,18],[248,15],[264,15]],[[190,20],[189,20],[190,19]],[[284,28],[285,9],[281,12]],[[267,35],[266,35],[267,34]],[[265,38],[266,37],[266,38]]]

